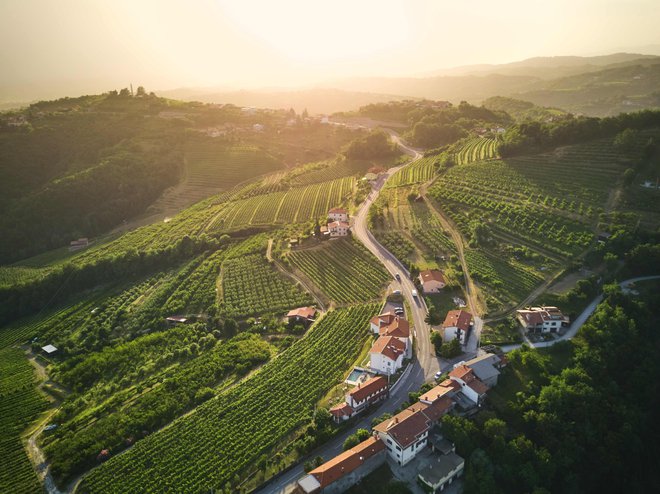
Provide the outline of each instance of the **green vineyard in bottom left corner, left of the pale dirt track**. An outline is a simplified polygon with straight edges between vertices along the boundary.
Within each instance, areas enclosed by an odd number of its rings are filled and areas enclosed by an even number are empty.
[[[21,434],[47,406],[34,387],[34,369],[18,348],[0,350],[0,492],[41,491]]]

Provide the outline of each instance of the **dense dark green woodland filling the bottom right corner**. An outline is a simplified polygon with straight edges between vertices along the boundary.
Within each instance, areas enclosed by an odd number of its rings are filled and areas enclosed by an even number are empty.
[[[443,418],[468,458],[465,492],[646,492],[660,485],[658,294],[636,300],[616,285],[572,343],[562,370],[523,347],[500,384],[523,390],[477,423]],[[507,395],[510,396],[510,395]],[[634,461],[630,461],[634,458]]]

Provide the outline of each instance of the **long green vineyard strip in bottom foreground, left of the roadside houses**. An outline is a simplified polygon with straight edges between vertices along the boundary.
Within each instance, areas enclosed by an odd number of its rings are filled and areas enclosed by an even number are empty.
[[[328,313],[281,357],[91,471],[81,492],[238,491],[246,470],[306,423],[369,337],[375,304]],[[333,358],[327,358],[332,355]]]

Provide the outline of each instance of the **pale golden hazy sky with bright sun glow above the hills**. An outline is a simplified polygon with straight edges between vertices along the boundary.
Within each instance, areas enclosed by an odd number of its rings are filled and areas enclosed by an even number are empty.
[[[659,0],[0,0],[0,100],[657,51],[659,26]]]

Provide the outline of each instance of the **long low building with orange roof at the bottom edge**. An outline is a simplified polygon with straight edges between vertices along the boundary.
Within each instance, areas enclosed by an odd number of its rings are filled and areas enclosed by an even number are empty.
[[[301,494],[338,494],[382,465],[384,460],[385,445],[372,436],[309,472],[296,487]]]

